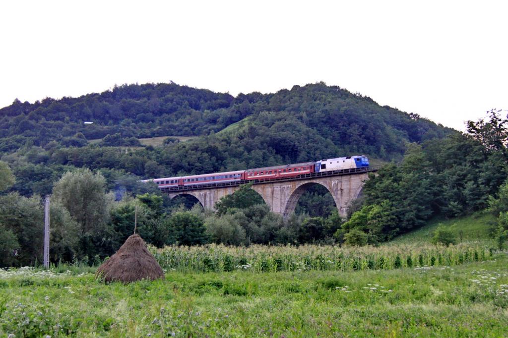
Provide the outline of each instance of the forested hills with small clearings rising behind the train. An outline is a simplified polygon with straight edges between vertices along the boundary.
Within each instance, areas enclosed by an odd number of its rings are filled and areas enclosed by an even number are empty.
[[[101,170],[113,186],[124,175],[204,174],[350,154],[376,164],[399,160],[408,142],[450,132],[324,83],[236,97],[174,83],[123,85],[0,109],[0,158],[16,176],[13,190],[29,196],[51,193],[74,167]],[[168,135],[185,142],[163,144]]]

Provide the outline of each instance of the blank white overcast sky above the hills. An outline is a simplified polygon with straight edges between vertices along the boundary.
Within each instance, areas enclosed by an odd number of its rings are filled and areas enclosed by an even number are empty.
[[[464,129],[508,109],[508,2],[0,3],[0,107],[169,82],[325,81]]]

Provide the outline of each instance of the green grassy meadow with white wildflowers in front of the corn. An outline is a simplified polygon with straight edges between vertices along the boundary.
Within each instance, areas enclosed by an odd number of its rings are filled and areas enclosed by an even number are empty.
[[[93,274],[0,271],[0,336],[495,336],[508,334],[508,258],[396,271]]]

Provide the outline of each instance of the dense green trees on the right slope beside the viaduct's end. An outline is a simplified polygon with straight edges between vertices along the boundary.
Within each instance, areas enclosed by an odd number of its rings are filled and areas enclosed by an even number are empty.
[[[400,164],[385,165],[370,176],[363,207],[336,237],[355,229],[366,234],[368,243],[386,241],[422,226],[431,216],[460,216],[489,204],[502,226],[508,211],[508,189],[502,185],[508,177],[506,121],[491,112],[488,122],[468,122],[469,134],[409,145]]]

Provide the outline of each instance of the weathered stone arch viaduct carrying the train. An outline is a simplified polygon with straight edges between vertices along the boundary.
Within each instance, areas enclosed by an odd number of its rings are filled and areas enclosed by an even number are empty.
[[[364,181],[368,178],[367,172],[313,177],[290,181],[268,181],[252,185],[265,200],[270,210],[281,214],[284,218],[295,211],[298,199],[312,185],[325,186],[333,196],[335,205],[341,216],[345,216],[348,203],[357,198],[362,191]],[[192,195],[196,197],[205,209],[214,209],[215,203],[223,196],[232,194],[239,186],[214,187],[206,189],[193,189],[186,191],[168,192],[170,198],[178,195]]]

